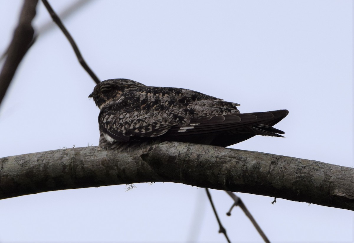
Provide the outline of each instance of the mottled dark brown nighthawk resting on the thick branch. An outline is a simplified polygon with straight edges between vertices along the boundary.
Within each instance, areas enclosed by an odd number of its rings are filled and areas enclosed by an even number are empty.
[[[255,135],[283,137],[272,126],[287,110],[241,114],[239,104],[197,91],[146,86],[130,79],[108,79],[89,95],[98,115],[99,147],[136,148],[151,142],[179,141],[229,146]]]

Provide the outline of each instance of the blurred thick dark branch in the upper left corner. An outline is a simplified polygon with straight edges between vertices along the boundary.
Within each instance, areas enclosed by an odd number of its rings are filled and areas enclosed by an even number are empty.
[[[24,1],[18,26],[7,49],[8,55],[0,73],[0,103],[6,94],[19,63],[33,44],[34,29],[32,20],[36,15],[37,2],[38,0]]]

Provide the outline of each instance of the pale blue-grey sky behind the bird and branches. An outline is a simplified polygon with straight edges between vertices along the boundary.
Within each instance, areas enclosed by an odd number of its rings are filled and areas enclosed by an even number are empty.
[[[61,12],[70,0],[51,0]],[[22,1],[0,0],[0,52]],[[41,2],[34,26],[50,21]],[[90,1],[64,20],[99,79],[129,78],[288,109],[232,148],[353,167],[353,2]],[[2,64],[2,63],[1,63]],[[58,28],[40,34],[0,107],[0,157],[98,145],[95,83]],[[225,242],[203,188],[156,182],[0,200],[0,242]],[[262,242],[240,208],[211,190],[232,242]],[[354,213],[237,193],[271,242],[353,242]]]

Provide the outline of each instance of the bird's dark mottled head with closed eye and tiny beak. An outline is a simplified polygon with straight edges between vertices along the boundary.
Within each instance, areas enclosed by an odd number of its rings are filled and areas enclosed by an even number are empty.
[[[118,100],[125,91],[145,86],[130,79],[108,79],[97,84],[89,98],[93,98],[99,109],[112,100]]]

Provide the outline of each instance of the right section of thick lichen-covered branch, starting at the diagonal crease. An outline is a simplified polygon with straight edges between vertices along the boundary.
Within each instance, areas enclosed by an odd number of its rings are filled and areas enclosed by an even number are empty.
[[[354,210],[354,169],[275,154],[165,143],[142,158],[162,179]]]

